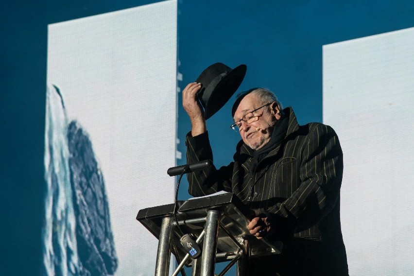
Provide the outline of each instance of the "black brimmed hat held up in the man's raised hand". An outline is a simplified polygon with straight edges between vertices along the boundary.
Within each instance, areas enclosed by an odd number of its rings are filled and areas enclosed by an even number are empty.
[[[220,62],[204,69],[196,82],[202,85],[197,97],[204,107],[206,120],[219,111],[233,96],[242,84],[246,70],[247,66],[244,64],[231,69]]]

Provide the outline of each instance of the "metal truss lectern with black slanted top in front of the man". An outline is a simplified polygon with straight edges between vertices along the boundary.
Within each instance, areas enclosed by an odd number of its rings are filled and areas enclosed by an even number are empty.
[[[202,253],[198,259],[191,259],[181,245],[183,234],[175,227],[174,204],[141,209],[137,220],[159,240],[155,276],[168,275],[171,253],[179,262],[173,276],[184,271],[184,265],[192,266],[192,276],[214,276],[215,263],[223,261],[230,262],[219,276],[236,262],[238,275],[245,276],[247,258],[281,252],[282,242],[258,240],[247,231],[247,220],[254,212],[233,193],[194,198],[178,204],[178,224],[184,234],[190,234],[199,244]]]

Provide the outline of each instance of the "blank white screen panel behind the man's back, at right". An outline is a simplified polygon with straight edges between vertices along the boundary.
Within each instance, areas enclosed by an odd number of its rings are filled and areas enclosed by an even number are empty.
[[[323,47],[349,274],[414,275],[414,28]]]

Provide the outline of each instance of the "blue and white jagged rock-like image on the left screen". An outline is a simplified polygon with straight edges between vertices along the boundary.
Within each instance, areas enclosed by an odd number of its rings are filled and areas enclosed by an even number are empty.
[[[47,90],[46,134],[44,275],[113,275],[118,260],[104,176],[57,86]]]

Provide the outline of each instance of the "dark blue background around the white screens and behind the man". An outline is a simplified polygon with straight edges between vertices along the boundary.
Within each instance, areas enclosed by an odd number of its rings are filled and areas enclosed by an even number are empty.
[[[2,4],[0,276],[36,275],[41,265],[47,25],[151,2]],[[179,0],[178,8],[179,86],[212,63],[232,68],[244,63],[240,90],[270,88],[284,106],[293,106],[299,123],[322,121],[322,45],[414,27],[411,0]],[[231,161],[239,140],[229,128],[230,106],[207,122],[216,166]],[[184,155],[190,124],[181,104],[178,122],[178,150]],[[182,199],[188,198],[186,185],[183,181]]]

